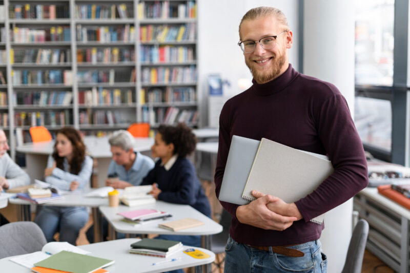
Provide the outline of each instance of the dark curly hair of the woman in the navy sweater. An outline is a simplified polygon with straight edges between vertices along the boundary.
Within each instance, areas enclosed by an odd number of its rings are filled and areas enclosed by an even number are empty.
[[[176,126],[159,125],[158,133],[161,134],[162,140],[167,144],[174,144],[173,154],[186,157],[190,155],[196,148],[196,136],[192,133],[185,123],[179,122]]]

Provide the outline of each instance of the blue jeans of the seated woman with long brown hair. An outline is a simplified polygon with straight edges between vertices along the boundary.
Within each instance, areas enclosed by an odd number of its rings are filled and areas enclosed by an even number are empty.
[[[60,233],[60,242],[75,245],[79,230],[88,221],[85,207],[43,206],[34,222],[43,230],[47,242],[54,241],[54,234]]]

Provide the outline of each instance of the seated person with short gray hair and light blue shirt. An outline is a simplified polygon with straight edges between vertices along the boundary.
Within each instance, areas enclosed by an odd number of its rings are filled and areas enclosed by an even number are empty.
[[[107,179],[106,185],[114,188],[125,188],[141,184],[154,167],[154,161],[139,152],[134,152],[134,137],[126,130],[114,132],[108,140],[111,145],[112,161],[108,166],[108,176],[118,180]]]

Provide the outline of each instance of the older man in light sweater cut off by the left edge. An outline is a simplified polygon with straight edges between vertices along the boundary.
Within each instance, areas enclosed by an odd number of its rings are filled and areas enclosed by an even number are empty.
[[[30,184],[30,177],[11,160],[7,151],[10,149],[6,134],[0,128],[0,192],[8,188]],[[8,221],[0,214],[0,225]]]

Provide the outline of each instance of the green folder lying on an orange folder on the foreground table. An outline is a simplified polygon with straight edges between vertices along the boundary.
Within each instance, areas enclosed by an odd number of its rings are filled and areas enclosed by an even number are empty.
[[[63,250],[34,265],[73,273],[89,273],[113,263],[112,260]]]

